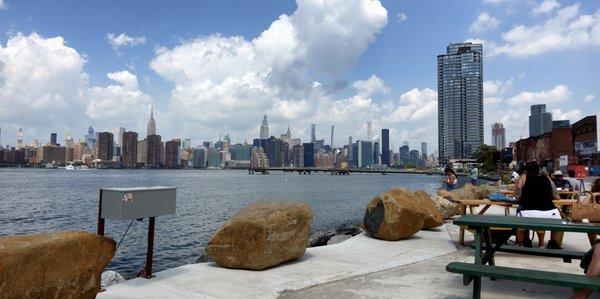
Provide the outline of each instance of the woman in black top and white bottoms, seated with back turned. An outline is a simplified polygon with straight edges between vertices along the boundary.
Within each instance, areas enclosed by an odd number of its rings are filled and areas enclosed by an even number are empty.
[[[527,163],[525,168],[525,174],[521,175],[517,182],[517,184],[522,184],[521,193],[518,196],[517,216],[561,219],[560,211],[552,202],[558,199],[558,194],[552,190],[550,178],[540,173],[540,167],[536,162]],[[545,232],[537,233],[539,246],[542,247],[544,246]],[[547,248],[560,249],[557,240],[562,239],[561,237],[561,232],[551,232]],[[529,232],[517,231],[517,242],[530,247]]]

